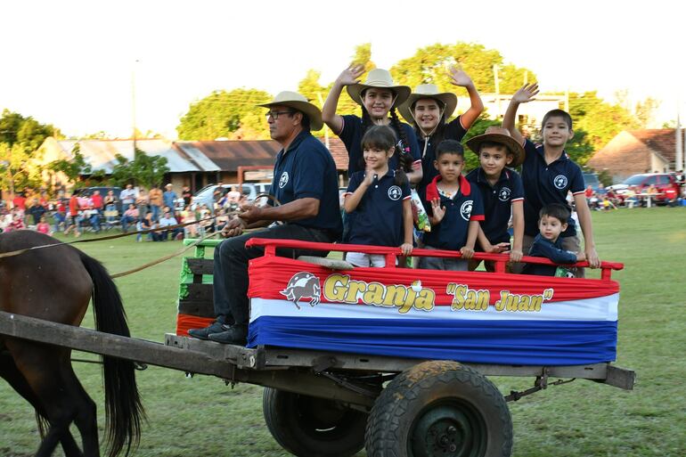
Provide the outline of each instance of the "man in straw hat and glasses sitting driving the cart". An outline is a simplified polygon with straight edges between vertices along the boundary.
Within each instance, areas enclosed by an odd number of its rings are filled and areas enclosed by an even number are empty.
[[[331,153],[310,134],[323,126],[322,112],[295,92],[282,92],[265,103],[269,133],[282,145],[276,156],[271,194],[280,204],[260,208],[244,206],[222,234],[228,238],[216,246],[214,306],[216,321],[205,329],[192,329],[195,338],[245,345],[248,338],[248,262],[263,249],[245,247],[250,238],[332,242],[339,239],[343,224],[339,212],[338,175]],[[275,224],[265,230],[243,233]],[[280,255],[290,255],[280,249]],[[301,255],[298,252],[296,255]],[[325,255],[326,253],[308,253]]]

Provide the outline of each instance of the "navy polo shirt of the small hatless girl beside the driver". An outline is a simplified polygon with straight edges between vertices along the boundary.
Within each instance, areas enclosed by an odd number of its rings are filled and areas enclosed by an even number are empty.
[[[350,176],[346,195],[364,181],[365,173],[358,171]],[[347,241],[351,244],[375,246],[400,246],[404,243],[403,201],[410,198],[410,184],[396,184],[396,173],[388,170],[386,175],[374,180],[367,187],[362,200],[350,213],[350,233]]]

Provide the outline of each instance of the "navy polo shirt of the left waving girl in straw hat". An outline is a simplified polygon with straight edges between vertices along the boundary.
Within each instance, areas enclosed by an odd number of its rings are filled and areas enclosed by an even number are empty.
[[[339,133],[339,138],[346,145],[347,149],[347,175],[352,176],[355,172],[364,169],[364,158],[362,151],[362,137],[364,132],[362,131],[362,118],[355,116],[354,114],[348,114],[342,116],[343,118],[343,129]],[[400,132],[396,130],[393,123],[388,124],[393,130],[396,131],[396,136],[398,142],[402,142],[402,136]],[[408,126],[404,122],[400,123],[400,126],[404,130],[405,137],[410,147],[410,155],[415,159],[421,159],[420,147],[417,144],[417,135],[414,135],[414,130],[411,126]],[[401,149],[404,149],[408,145],[401,144]],[[396,170],[400,168],[400,159],[398,159],[398,154],[394,154],[388,160],[388,169]]]

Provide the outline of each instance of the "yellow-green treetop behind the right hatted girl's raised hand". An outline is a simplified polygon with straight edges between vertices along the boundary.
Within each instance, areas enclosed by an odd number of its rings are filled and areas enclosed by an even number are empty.
[[[525,79],[535,80],[533,71],[505,63],[500,52],[486,49],[484,45],[462,42],[423,47],[412,57],[398,61],[391,68],[391,73],[396,82],[412,88],[430,83],[446,92],[458,91],[458,95],[466,95],[464,89],[450,84],[447,69],[453,65],[461,66],[482,93],[495,92],[495,66],[498,69],[499,89],[502,94],[514,94]]]

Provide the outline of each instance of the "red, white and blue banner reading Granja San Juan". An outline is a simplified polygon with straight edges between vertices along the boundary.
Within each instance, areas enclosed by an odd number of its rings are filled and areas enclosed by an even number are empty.
[[[249,347],[463,363],[614,361],[617,282],[409,268],[249,265]]]

